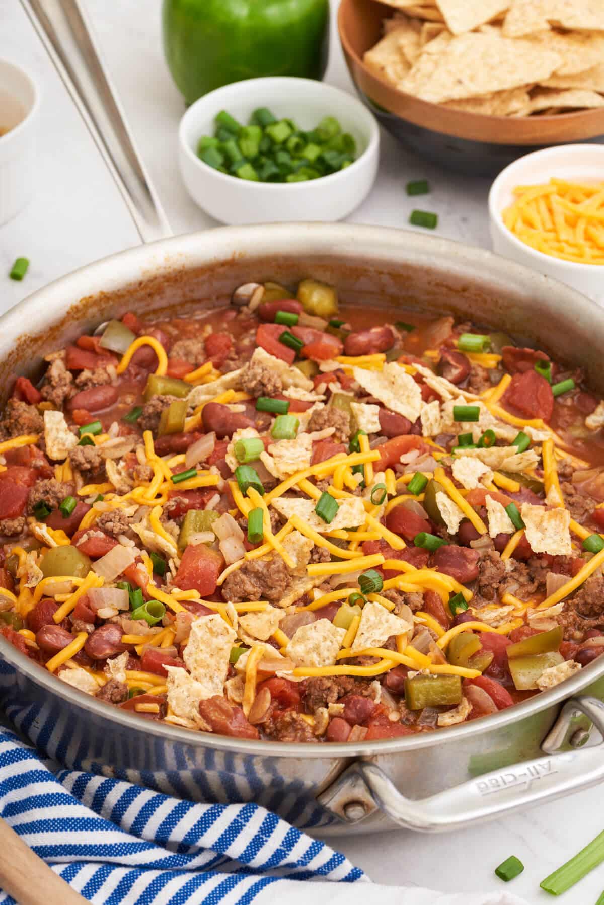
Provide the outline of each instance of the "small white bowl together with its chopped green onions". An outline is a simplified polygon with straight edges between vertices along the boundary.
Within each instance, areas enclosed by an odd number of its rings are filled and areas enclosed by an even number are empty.
[[[321,81],[237,81],[189,107],[178,130],[187,191],[225,224],[334,221],[369,194],[379,127]]]

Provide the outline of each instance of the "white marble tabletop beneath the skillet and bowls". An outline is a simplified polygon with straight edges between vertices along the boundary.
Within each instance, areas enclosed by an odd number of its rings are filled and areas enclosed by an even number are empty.
[[[84,0],[84,5],[174,232],[216,225],[188,199],[177,173],[176,129],[183,104],[161,55],[160,0]],[[136,244],[137,233],[18,0],[0,0],[0,56],[32,71],[43,90],[34,201],[0,227],[0,311],[4,311],[62,274]],[[350,89],[335,35],[327,80]],[[425,176],[433,189],[426,206],[439,214],[438,233],[487,245],[488,181],[440,172],[406,154],[386,134],[379,182],[350,221],[407,228],[415,205],[405,194],[405,184]],[[25,281],[3,279],[18,255],[32,262]],[[501,891],[503,884],[493,869],[515,854],[526,869],[506,889],[532,905],[545,905],[550,897],[539,890],[539,881],[602,830],[603,812],[604,788],[597,788],[455,835],[395,831],[333,843],[376,881],[456,892]],[[564,905],[595,905],[603,889],[600,868],[565,894]]]

